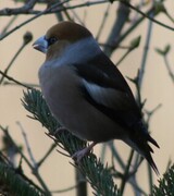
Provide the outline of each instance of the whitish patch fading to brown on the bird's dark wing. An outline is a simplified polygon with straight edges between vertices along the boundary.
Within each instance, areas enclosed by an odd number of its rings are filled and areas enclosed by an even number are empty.
[[[98,103],[115,110],[122,109],[123,105],[126,107],[128,103],[127,95],[120,90],[102,87],[86,79],[83,79],[83,84],[92,99]]]

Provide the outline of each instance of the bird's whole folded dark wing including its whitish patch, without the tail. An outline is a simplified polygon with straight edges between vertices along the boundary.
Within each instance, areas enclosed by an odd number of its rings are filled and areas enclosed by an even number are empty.
[[[141,119],[130,88],[107,56],[101,53],[75,68],[83,81],[80,90],[94,107],[124,126]]]

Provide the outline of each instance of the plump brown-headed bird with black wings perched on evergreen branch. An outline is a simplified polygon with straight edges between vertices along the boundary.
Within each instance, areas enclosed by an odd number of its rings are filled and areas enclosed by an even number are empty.
[[[95,145],[121,139],[158,174],[149,143],[159,145],[148,133],[126,79],[90,30],[75,22],[60,22],[33,47],[46,54],[38,77],[53,117],[78,138],[91,142],[72,157],[80,161]]]

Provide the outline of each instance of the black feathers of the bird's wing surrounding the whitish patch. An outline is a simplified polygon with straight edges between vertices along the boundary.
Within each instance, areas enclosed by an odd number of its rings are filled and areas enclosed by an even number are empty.
[[[83,63],[83,65],[75,64],[75,68],[78,75],[85,78],[88,83],[96,84],[104,88],[115,89],[127,97],[127,100],[125,100],[126,105],[122,107],[122,110],[114,107],[110,108],[96,101],[85,85],[82,85],[80,89],[83,95],[94,107],[122,126],[130,127],[141,119],[140,110],[134,99],[129,86],[120,71],[109,58],[103,56],[103,53],[86,63]]]

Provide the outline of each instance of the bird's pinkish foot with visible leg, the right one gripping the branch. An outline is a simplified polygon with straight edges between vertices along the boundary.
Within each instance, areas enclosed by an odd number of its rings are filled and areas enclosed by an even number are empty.
[[[88,147],[86,147],[86,148],[84,148],[84,149],[82,149],[82,150],[78,150],[78,151],[76,151],[73,156],[72,156],[72,158],[78,163],[82,159],[83,159],[83,157],[85,157],[86,155],[88,155],[89,154],[89,151],[94,148],[94,146],[96,145],[97,143],[91,143]]]

